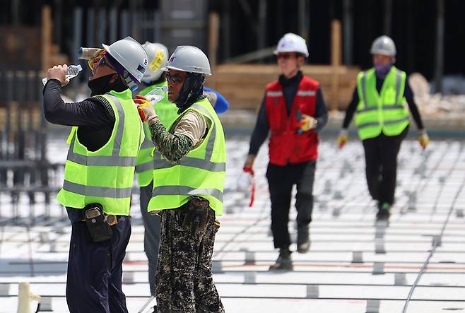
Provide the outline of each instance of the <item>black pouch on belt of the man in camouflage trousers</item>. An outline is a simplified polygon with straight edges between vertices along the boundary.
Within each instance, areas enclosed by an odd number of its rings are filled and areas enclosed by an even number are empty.
[[[205,229],[208,220],[208,206],[210,202],[199,196],[192,196],[187,201],[187,212],[184,215],[182,227],[191,230],[192,235],[195,232],[201,232]]]

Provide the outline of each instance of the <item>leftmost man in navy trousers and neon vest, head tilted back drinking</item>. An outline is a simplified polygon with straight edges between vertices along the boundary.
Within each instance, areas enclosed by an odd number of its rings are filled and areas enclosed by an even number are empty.
[[[127,313],[122,262],[131,235],[129,206],[143,126],[130,88],[148,60],[131,37],[102,45],[89,60],[91,97],[65,103],[67,66],[47,71],[44,114],[73,126],[57,199],[71,220],[66,302],[71,313]]]

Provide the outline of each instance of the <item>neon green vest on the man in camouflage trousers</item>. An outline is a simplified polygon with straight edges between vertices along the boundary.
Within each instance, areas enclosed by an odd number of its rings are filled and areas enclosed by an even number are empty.
[[[153,194],[148,211],[179,208],[189,196],[210,201],[216,215],[223,214],[223,187],[226,170],[226,147],[223,126],[208,100],[194,103],[189,110],[199,112],[211,125],[201,145],[189,151],[179,163],[169,163],[158,151],[153,155]],[[184,116],[184,114],[182,116]],[[179,117],[177,120],[179,120]],[[173,123],[173,125],[175,125]],[[172,126],[170,132],[174,132]]]

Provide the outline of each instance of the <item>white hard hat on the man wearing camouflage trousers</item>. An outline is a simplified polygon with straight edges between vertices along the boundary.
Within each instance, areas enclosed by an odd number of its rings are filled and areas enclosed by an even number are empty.
[[[211,75],[208,58],[201,49],[194,46],[177,46],[163,71],[169,71],[170,69],[199,73],[206,76]]]

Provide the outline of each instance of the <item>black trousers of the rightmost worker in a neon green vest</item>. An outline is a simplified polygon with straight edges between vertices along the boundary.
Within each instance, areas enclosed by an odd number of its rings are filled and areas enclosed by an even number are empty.
[[[380,134],[363,140],[365,175],[368,191],[379,203],[394,204],[397,177],[397,154],[407,136],[408,127],[397,136]]]

